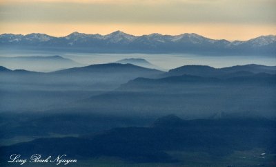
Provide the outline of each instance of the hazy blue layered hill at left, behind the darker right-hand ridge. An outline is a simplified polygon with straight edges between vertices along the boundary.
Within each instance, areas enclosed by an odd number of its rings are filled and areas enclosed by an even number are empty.
[[[137,77],[154,78],[163,71],[130,64],[102,64],[41,73],[0,68],[0,111],[44,110],[68,106],[101,91],[111,91]],[[60,105],[65,104],[65,105]]]

